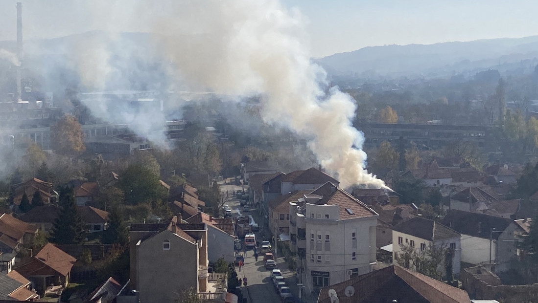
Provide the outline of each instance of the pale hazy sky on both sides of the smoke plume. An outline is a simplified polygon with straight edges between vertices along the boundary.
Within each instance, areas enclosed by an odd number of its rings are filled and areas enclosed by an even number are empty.
[[[23,0],[25,39],[89,30],[148,31],[132,1]],[[142,2],[141,0],[137,0]],[[188,5],[192,1],[185,1]],[[0,0],[0,40],[16,37],[16,0]],[[112,4],[110,4],[112,3]],[[160,1],[147,1],[158,10]],[[150,4],[151,3],[151,4]],[[282,0],[307,21],[314,57],[365,46],[538,35],[533,0]]]

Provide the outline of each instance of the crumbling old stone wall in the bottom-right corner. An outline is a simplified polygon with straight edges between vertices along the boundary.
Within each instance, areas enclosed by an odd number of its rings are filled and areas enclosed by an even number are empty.
[[[481,266],[462,270],[461,278],[462,288],[471,299],[538,303],[538,284],[502,285],[497,275]]]

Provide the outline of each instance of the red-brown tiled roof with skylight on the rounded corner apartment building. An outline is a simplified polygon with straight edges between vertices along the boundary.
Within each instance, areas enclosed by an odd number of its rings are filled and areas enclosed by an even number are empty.
[[[351,194],[339,189],[334,184],[327,182],[314,190],[310,194],[317,194],[322,198],[315,204],[323,205],[338,205],[340,207],[340,220],[374,217],[378,214],[368,207],[366,204],[355,199]],[[353,212],[350,214],[348,208]]]

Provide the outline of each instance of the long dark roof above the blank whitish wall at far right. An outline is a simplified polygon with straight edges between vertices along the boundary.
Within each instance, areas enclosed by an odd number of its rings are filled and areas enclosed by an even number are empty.
[[[460,234],[470,235],[483,239],[489,239],[490,230],[495,228],[504,231],[514,220],[494,217],[482,213],[472,213],[458,210],[451,210],[441,220],[446,226],[456,230]],[[479,224],[482,223],[482,224]],[[521,231],[523,231],[521,229]],[[493,239],[497,240],[500,233],[493,233]]]

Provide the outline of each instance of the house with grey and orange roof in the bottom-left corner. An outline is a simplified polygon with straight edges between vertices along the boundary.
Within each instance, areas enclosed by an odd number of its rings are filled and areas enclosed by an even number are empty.
[[[13,270],[7,274],[0,272],[0,299],[10,302],[37,301],[39,295],[31,291],[29,280]]]

